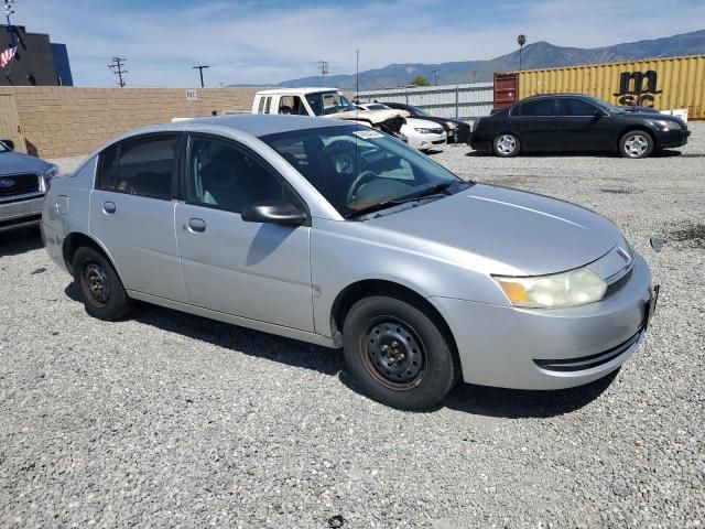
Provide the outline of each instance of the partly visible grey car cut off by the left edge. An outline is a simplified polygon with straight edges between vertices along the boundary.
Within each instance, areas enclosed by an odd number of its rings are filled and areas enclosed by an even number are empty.
[[[57,171],[0,141],[0,231],[40,224],[44,193]]]

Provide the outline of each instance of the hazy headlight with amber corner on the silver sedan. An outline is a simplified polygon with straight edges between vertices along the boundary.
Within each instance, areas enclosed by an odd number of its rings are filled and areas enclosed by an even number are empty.
[[[531,278],[494,277],[514,306],[561,309],[599,301],[607,283],[589,268]]]

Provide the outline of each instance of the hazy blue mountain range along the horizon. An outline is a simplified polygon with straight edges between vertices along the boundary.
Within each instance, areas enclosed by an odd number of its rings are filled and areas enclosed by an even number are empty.
[[[705,30],[648,41],[629,42],[611,46],[581,48],[555,46],[547,42],[528,44],[522,51],[522,68],[547,68],[578,64],[608,63],[651,57],[705,54]],[[422,75],[434,83],[434,71],[438,71],[438,85],[479,83],[492,79],[495,72],[519,69],[519,51],[489,61],[462,61],[438,64],[390,64],[383,68],[360,72],[360,90],[405,86]],[[321,76],[288,79],[271,86],[302,87],[319,86]],[[241,85],[230,85],[241,86]],[[355,74],[329,75],[326,86],[354,90]]]

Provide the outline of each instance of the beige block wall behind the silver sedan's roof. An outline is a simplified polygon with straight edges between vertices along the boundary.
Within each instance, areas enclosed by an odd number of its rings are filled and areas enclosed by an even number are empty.
[[[198,88],[187,100],[183,88],[0,87],[0,137],[42,158],[86,154],[137,127],[249,111],[256,91]]]

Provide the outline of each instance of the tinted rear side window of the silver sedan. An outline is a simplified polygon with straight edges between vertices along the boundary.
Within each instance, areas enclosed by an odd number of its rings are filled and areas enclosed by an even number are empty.
[[[176,134],[138,138],[101,154],[98,188],[170,199],[174,179]]]

